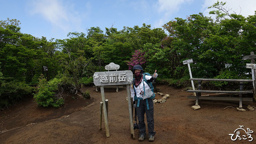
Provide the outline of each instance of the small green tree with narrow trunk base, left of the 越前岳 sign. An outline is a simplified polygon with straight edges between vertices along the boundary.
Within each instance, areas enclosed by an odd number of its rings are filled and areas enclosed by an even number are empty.
[[[87,39],[78,35],[58,42],[62,48],[60,63],[63,74],[70,79],[71,84],[74,84],[76,93],[80,92],[82,78],[85,76],[89,64],[89,60],[85,57]]]

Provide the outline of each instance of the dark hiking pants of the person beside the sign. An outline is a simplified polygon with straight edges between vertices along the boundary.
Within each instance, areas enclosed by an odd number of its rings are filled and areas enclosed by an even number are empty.
[[[138,102],[138,101],[137,101]],[[155,135],[154,131],[154,103],[153,99],[148,99],[149,110],[147,109],[147,103],[145,100],[140,100],[139,107],[136,107],[136,113],[139,120],[140,134],[146,135],[146,124],[144,122],[144,115],[146,112],[147,124],[148,124],[148,135]],[[136,104],[137,106],[137,104]]]

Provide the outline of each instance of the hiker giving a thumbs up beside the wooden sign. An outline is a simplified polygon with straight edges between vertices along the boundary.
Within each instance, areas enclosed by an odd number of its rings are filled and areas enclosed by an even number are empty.
[[[157,73],[150,76],[148,73],[143,73],[140,65],[133,66],[133,85],[131,86],[131,97],[133,98],[133,107],[136,109],[138,116],[139,127],[139,141],[146,138],[146,124],[144,122],[144,115],[147,116],[148,125],[148,140],[155,140],[154,131],[154,103],[155,98],[154,87],[152,82],[157,78]]]

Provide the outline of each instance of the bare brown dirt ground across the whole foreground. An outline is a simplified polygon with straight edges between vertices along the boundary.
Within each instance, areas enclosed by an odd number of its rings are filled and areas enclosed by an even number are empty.
[[[201,109],[193,110],[195,100],[187,99],[192,93],[166,85],[157,88],[171,98],[154,105],[155,143],[255,143],[256,112],[246,109],[248,105],[255,106],[255,102],[243,102],[246,111],[237,111],[234,108],[238,102],[199,101]],[[148,138],[138,141],[138,130],[134,130],[135,139],[131,138],[125,89],[105,89],[109,100],[109,138],[104,121],[99,129],[101,93],[93,86],[83,90],[89,90],[92,98],[84,100],[73,95],[60,108],[37,107],[31,98],[0,111],[0,143],[149,143]],[[231,140],[229,134],[239,125],[254,131],[251,142],[248,137]]]

